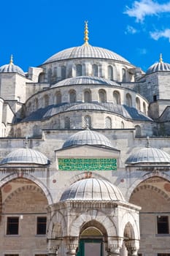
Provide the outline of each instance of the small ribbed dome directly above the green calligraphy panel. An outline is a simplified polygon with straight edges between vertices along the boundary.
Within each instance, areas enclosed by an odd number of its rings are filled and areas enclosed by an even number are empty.
[[[90,129],[85,129],[72,135],[63,143],[63,148],[82,145],[107,146],[112,148],[112,143],[106,136],[98,132],[93,132]]]

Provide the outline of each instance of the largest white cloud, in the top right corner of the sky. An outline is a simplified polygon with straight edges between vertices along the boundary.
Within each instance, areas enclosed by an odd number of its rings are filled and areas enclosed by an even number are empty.
[[[134,1],[132,7],[126,7],[124,13],[136,18],[136,22],[142,22],[147,15],[159,15],[163,12],[170,12],[170,1],[166,4],[159,4],[153,0]]]

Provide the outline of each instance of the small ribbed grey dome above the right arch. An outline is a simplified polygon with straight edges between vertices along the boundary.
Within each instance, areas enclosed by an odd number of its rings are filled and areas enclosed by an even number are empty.
[[[138,164],[138,163],[169,163],[170,155],[165,151],[158,148],[141,148],[135,151],[125,161],[126,164]]]

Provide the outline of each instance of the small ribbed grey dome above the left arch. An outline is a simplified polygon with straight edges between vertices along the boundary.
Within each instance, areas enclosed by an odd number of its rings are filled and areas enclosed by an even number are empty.
[[[9,164],[36,164],[36,165],[49,165],[50,160],[44,154],[31,148],[19,148],[12,151],[2,159],[1,165]]]

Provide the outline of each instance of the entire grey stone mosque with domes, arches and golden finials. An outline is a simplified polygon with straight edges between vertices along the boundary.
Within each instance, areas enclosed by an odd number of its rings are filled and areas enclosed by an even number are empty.
[[[90,45],[0,67],[0,256],[170,255],[170,64]]]

